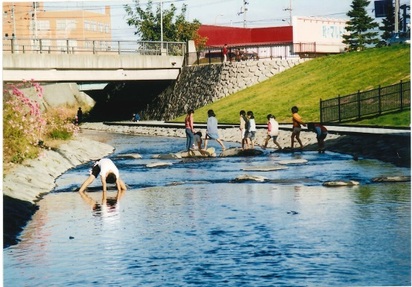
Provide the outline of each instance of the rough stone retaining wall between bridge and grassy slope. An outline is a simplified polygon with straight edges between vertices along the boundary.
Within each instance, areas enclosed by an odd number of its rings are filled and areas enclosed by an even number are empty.
[[[172,120],[219,99],[263,82],[305,59],[228,62],[184,67],[174,86],[169,87],[144,114],[147,119]]]

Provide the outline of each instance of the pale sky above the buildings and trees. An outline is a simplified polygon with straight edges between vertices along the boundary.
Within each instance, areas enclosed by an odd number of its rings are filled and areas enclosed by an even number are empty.
[[[283,26],[290,23],[292,16],[316,16],[323,18],[347,19],[352,0],[246,0],[246,16],[243,13],[244,0],[153,0],[156,5],[162,1],[167,9],[173,3],[180,12],[187,5],[186,19],[199,20],[202,24],[243,27],[246,17],[247,27]],[[140,0],[145,7],[147,0]],[[367,11],[373,15],[374,1],[370,1]],[[401,0],[401,4],[408,0]],[[124,1],[59,1],[45,2],[46,10],[91,10],[104,13],[104,6],[111,6],[113,40],[136,40],[135,29],[126,23],[125,4],[134,6],[131,0]]]

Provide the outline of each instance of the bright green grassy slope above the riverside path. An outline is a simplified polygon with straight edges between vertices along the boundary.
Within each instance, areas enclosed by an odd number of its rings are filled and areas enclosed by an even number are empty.
[[[320,99],[391,85],[400,80],[410,80],[409,45],[321,57],[196,110],[195,122],[206,122],[207,110],[213,109],[219,123],[237,123],[239,111],[244,109],[254,112],[257,123],[265,123],[269,113],[279,122],[289,123],[290,108],[294,105],[299,107],[304,121],[319,121]],[[409,126],[409,111],[401,117],[407,120],[400,125]],[[176,119],[183,120],[184,116]],[[386,116],[384,123],[379,124],[392,125],[391,121],[391,116]]]

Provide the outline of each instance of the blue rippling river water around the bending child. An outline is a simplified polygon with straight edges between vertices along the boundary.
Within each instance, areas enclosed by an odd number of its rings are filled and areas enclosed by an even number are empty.
[[[152,156],[182,150],[185,139],[97,136],[116,147],[110,158],[129,190],[96,208],[75,192],[91,163],[62,175],[19,244],[3,249],[4,286],[411,284],[410,183],[371,182],[410,169],[309,151],[160,160]],[[308,162],[242,170],[296,158]],[[146,167],[158,161],[171,165]],[[244,174],[267,180],[234,181]],[[323,187],[327,180],[360,186]],[[96,180],[88,194],[99,203],[101,193]]]

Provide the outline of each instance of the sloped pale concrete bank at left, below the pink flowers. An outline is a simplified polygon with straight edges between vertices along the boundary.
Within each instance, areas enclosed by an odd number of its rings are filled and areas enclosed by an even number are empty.
[[[44,150],[3,178],[3,247],[17,243],[17,235],[37,210],[36,201],[55,186],[55,179],[77,165],[113,152],[113,147],[77,136],[57,150]]]

